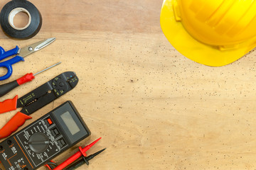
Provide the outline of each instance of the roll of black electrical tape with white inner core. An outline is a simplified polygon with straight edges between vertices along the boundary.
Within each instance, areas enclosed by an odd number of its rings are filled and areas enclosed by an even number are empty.
[[[25,12],[29,21],[24,28],[14,26],[14,16],[16,13]],[[26,0],[9,1],[0,13],[1,28],[6,35],[17,39],[28,39],[35,36],[42,26],[42,16],[36,6]]]

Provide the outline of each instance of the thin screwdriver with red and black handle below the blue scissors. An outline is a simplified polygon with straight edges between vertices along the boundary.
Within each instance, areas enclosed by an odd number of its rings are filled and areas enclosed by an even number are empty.
[[[60,64],[61,62],[58,62],[57,64],[54,64],[46,69],[43,69],[42,71],[36,73],[36,74],[33,74],[33,73],[28,73],[26,74],[25,76],[19,78],[19,79],[16,79],[14,81],[11,81],[10,83],[7,83],[7,84],[2,84],[0,85],[0,97],[8,94],[10,91],[12,91],[13,89],[15,89],[17,86],[20,86],[21,84],[25,84],[26,82],[28,81],[32,81],[33,79],[35,79],[35,76],[37,74],[40,74],[41,72],[44,72],[52,67],[55,67],[56,65]]]

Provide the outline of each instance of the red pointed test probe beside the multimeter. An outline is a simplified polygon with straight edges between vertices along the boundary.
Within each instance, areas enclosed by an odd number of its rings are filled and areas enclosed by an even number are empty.
[[[82,148],[79,147],[78,152],[76,152],[75,154],[73,154],[71,157],[69,157],[68,159],[65,160],[65,162],[61,163],[60,165],[58,165],[57,167],[55,167],[55,169],[53,170],[63,170],[66,166],[68,166],[69,164],[72,164],[73,162],[75,162],[78,158],[84,156],[86,157],[87,154],[87,150],[90,149],[90,147],[92,147],[93,145],[95,145],[96,142],[98,142],[101,139],[101,137],[97,140],[95,140],[95,142],[92,142],[90,145],[87,145],[86,147]]]

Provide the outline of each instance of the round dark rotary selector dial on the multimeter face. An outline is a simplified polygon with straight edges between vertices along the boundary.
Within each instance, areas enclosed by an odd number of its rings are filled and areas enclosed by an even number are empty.
[[[40,154],[49,146],[48,136],[43,132],[36,132],[28,139],[28,147],[35,152],[36,154]]]

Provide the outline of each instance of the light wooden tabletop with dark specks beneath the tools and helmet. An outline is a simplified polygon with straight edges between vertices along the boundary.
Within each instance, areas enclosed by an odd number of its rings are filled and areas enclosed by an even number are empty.
[[[1,0],[0,8],[8,1]],[[161,31],[161,0],[31,2],[43,16],[41,31],[30,40],[0,31],[0,45],[9,50],[57,40],[15,64],[1,84],[62,64],[1,101],[76,72],[78,86],[33,113],[33,120],[65,101],[75,103],[92,131],[80,145],[102,137],[87,153],[107,147],[80,169],[256,169],[255,52],[218,68],[188,60]],[[15,113],[2,114],[0,125]],[[54,160],[63,162],[77,150]]]

